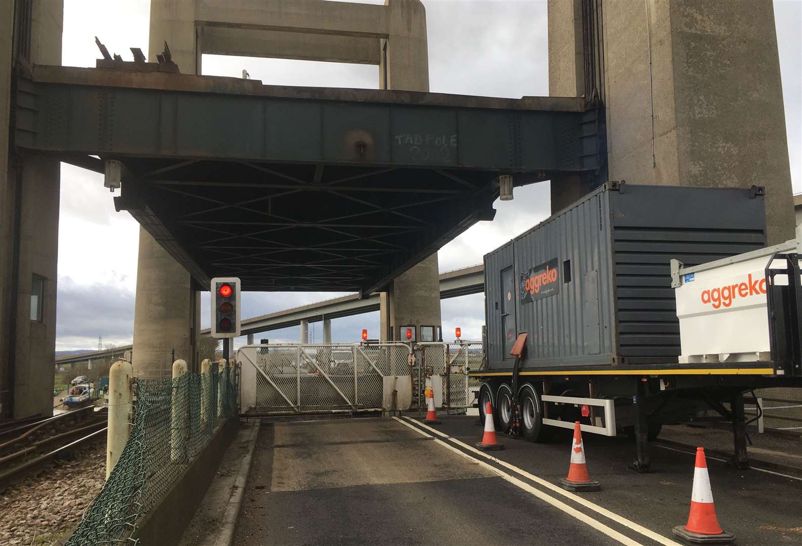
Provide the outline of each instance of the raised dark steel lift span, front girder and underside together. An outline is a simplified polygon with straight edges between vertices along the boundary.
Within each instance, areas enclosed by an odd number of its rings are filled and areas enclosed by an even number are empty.
[[[22,152],[120,160],[116,208],[201,287],[364,294],[492,220],[499,175],[593,175],[604,134],[581,98],[47,66],[18,79],[15,119]]]

